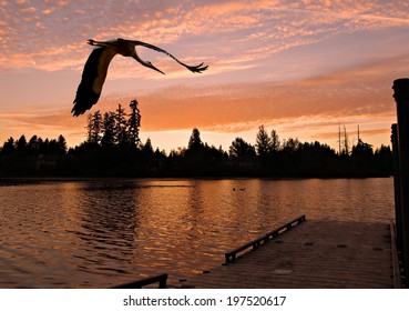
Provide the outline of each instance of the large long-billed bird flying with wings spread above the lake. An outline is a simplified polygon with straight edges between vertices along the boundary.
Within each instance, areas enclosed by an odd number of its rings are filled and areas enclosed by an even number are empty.
[[[82,72],[81,83],[78,87],[76,96],[74,99],[74,107],[71,111],[75,117],[91,109],[91,107],[95,104],[100,99],[102,86],[106,78],[108,67],[110,66],[113,57],[116,54],[131,57],[139,61],[142,66],[165,74],[163,71],[154,67],[152,62],[142,60],[136,53],[136,46],[145,47],[157,52],[165,53],[192,72],[201,73],[202,71],[207,69],[207,66],[204,66],[203,62],[197,66],[187,66],[167,51],[142,41],[125,40],[121,38],[112,41],[95,41],[93,39],[90,39],[88,40],[88,43],[98,48],[91,52]]]

